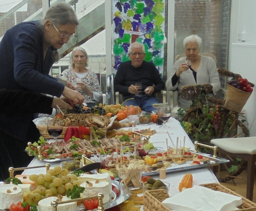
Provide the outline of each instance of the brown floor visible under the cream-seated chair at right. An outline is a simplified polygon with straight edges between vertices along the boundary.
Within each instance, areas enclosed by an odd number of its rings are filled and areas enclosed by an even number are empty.
[[[220,172],[221,178],[223,178],[225,175],[227,175],[227,172],[222,171]],[[246,183],[247,183],[247,174],[246,170],[244,170],[239,177],[242,177],[243,179],[236,178],[234,181],[236,183],[236,186],[232,182],[232,180],[226,182],[226,183],[221,183],[221,185],[229,188],[232,191],[235,191],[236,193],[246,197]],[[253,202],[256,203],[256,177],[254,178],[254,188],[253,188]]]

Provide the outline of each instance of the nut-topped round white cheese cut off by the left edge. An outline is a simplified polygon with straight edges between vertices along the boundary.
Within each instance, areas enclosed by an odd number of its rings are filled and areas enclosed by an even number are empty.
[[[21,187],[14,184],[0,185],[0,209],[10,209],[11,204],[23,202]]]

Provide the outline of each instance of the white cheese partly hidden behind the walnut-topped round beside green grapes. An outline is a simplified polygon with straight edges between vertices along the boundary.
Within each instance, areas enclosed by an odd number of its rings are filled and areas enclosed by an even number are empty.
[[[81,176],[77,178],[79,184],[82,184],[86,181],[96,181],[97,179],[99,179],[100,181],[107,181],[108,182],[109,195],[110,195],[110,193],[112,192],[112,182],[111,182],[110,175],[108,173],[103,173],[103,174],[81,174]]]

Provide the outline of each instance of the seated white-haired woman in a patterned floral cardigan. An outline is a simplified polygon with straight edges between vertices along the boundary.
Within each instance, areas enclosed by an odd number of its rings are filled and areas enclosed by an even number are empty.
[[[88,55],[84,48],[75,47],[70,56],[70,67],[62,72],[69,82],[74,84],[76,91],[84,96],[88,107],[102,101],[102,92],[97,75],[87,69]]]

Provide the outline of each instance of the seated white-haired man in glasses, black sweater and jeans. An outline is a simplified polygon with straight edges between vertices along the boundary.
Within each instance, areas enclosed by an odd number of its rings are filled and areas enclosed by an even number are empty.
[[[143,61],[145,58],[143,44],[133,42],[128,54],[131,61],[121,63],[116,72],[115,92],[119,91],[124,95],[125,100],[133,98],[124,105],[138,105],[146,112],[156,111],[152,104],[158,103],[155,93],[164,89],[164,81],[153,63]]]

